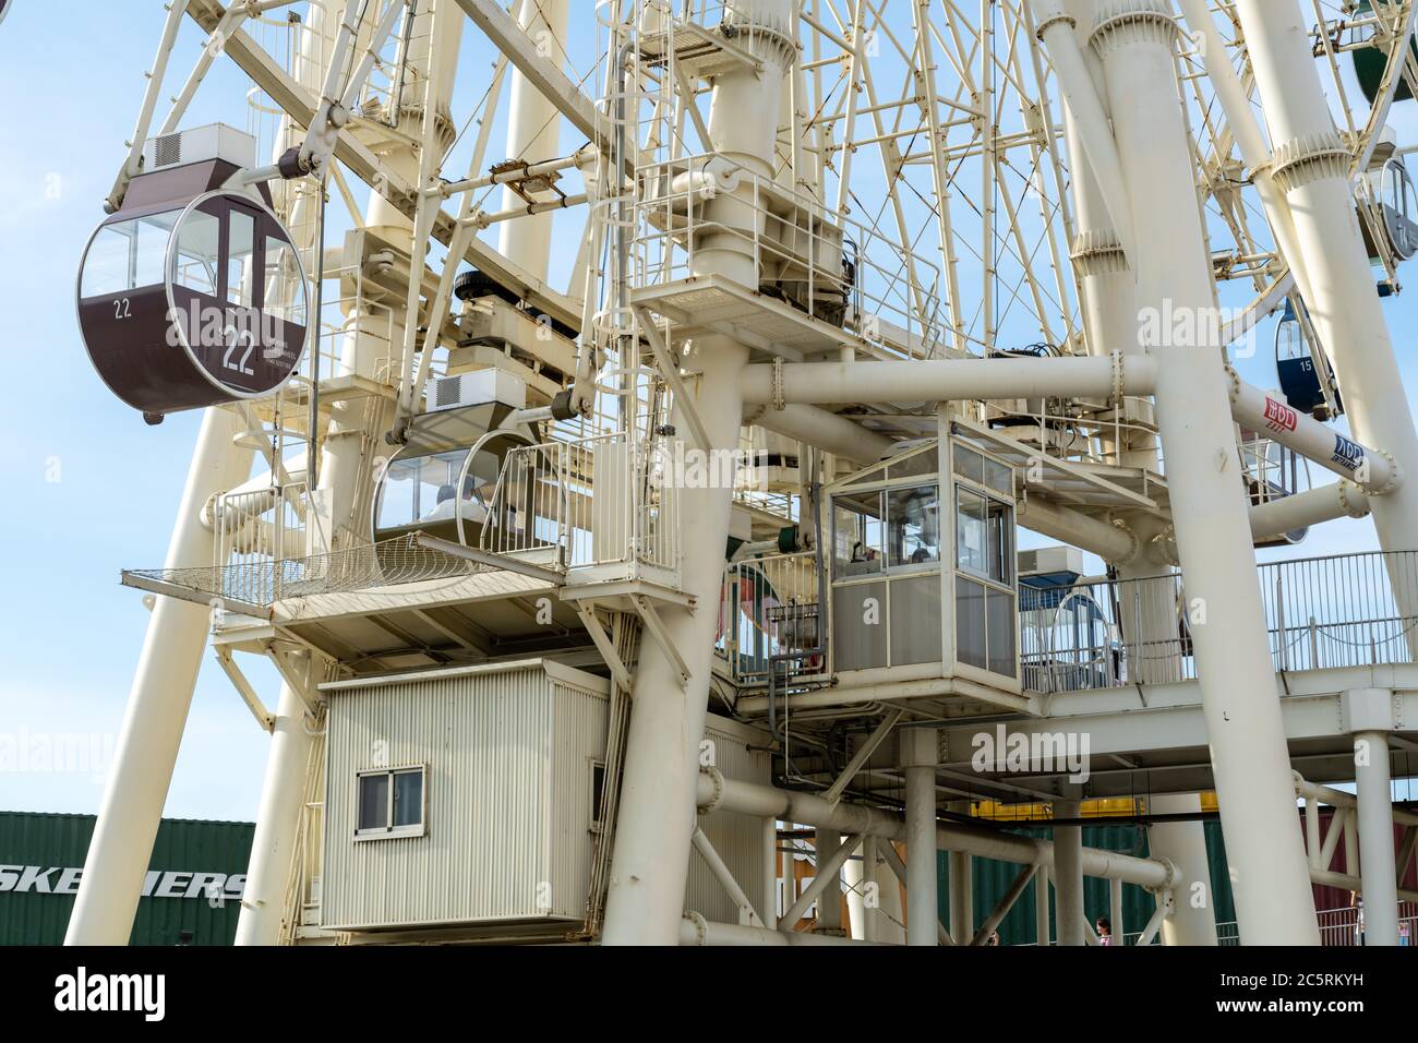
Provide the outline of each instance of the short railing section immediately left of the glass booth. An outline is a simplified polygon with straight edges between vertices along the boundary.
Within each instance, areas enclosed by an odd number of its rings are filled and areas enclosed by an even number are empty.
[[[815,673],[822,623],[817,555],[744,559],[725,569],[715,653],[742,685],[766,684],[783,657],[794,657],[790,673]]]

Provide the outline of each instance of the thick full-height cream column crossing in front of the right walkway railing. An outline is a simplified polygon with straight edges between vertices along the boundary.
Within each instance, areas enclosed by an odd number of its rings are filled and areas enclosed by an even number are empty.
[[[1132,213],[1140,307],[1215,307],[1164,0],[1117,0],[1092,43],[1103,61]],[[1210,324],[1201,324],[1205,326]],[[1227,856],[1248,944],[1319,941],[1275,668],[1241,495],[1221,346],[1159,345],[1157,426],[1173,501]],[[1061,881],[1062,887],[1062,881]],[[1061,929],[1062,937],[1062,929]]]

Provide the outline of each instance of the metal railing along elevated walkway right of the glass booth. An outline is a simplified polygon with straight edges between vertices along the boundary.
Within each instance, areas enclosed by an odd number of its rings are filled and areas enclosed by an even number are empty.
[[[1276,670],[1418,661],[1418,552],[1363,552],[1259,566]],[[1025,685],[1058,692],[1197,675],[1180,575],[1020,589]]]

